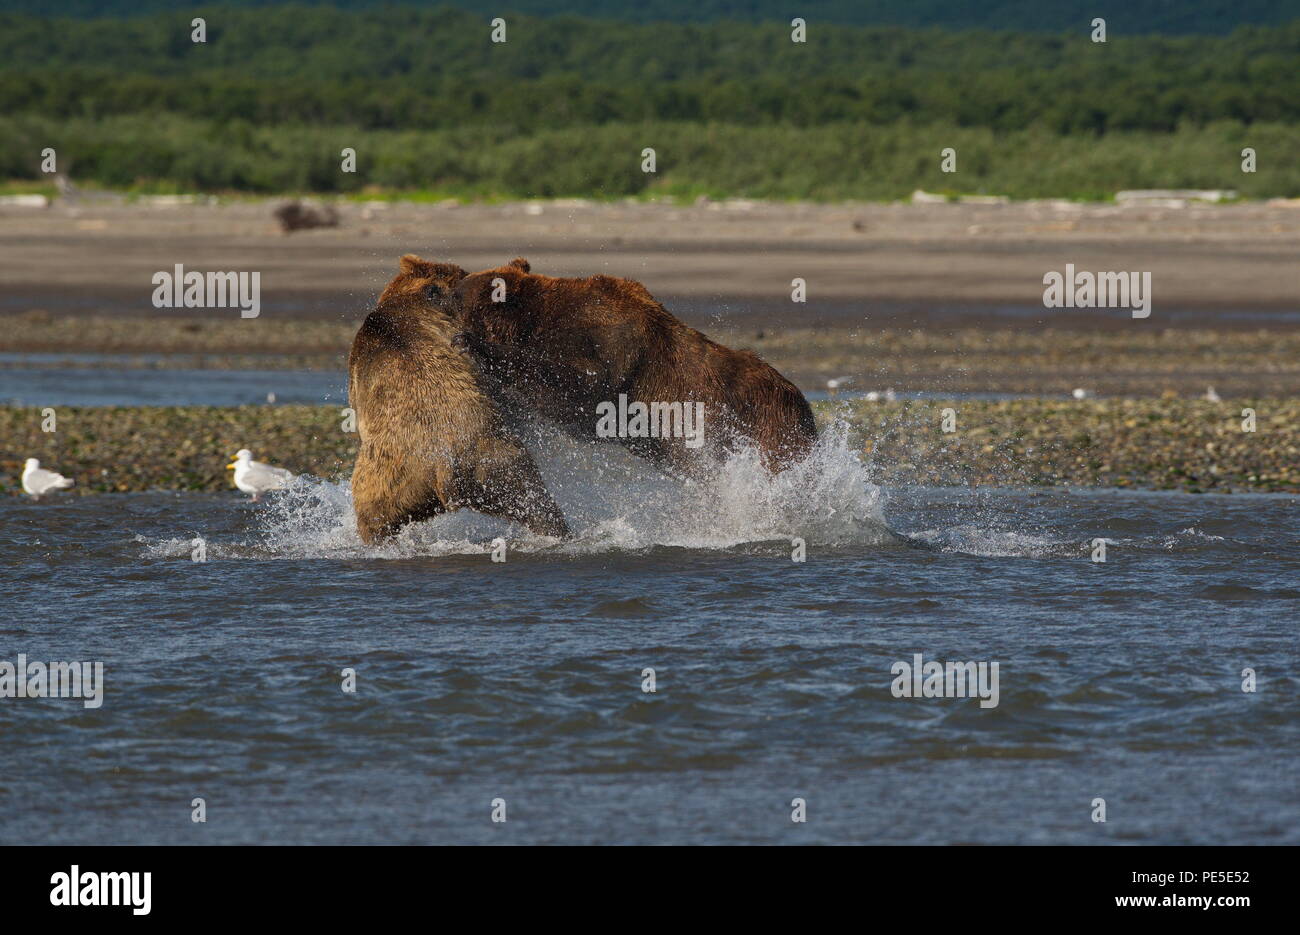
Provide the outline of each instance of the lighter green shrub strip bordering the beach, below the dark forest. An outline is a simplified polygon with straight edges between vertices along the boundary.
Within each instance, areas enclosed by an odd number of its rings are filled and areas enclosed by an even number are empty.
[[[894,199],[914,189],[1014,198],[1106,198],[1130,187],[1235,189],[1247,198],[1300,195],[1300,126],[1216,124],[1173,134],[1100,139],[1043,129],[783,126],[646,122],[538,133],[255,127],[147,116],[51,121],[0,118],[0,177],[34,177],[53,146],[74,178],[153,190],[358,192],[365,186],[451,196],[707,194],[715,198]],[[641,170],[654,147],[658,172]],[[954,147],[958,172],[940,172]],[[1240,151],[1260,153],[1242,173]],[[358,153],[355,174],[339,152]],[[160,185],[161,183],[161,185]]]

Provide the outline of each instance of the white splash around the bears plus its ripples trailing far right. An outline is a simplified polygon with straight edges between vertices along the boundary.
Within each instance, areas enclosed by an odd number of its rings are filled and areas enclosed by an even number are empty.
[[[788,550],[802,538],[819,553],[861,553],[913,546],[937,553],[988,558],[1075,558],[1105,536],[1128,550],[1186,551],[1214,549],[1225,540],[1199,528],[1176,533],[1150,531],[1132,536],[1091,520],[1075,524],[1072,511],[1035,507],[1032,494],[970,489],[898,488],[889,501],[901,528],[885,520],[887,495],[870,480],[852,429],[844,420],[828,425],[810,455],[770,476],[759,453],[744,449],[720,463],[703,482],[682,481],[612,443],[575,441],[559,429],[523,432],[547,488],[560,505],[573,538],[538,536],[521,525],[460,510],[416,523],[377,545],[356,533],[350,484],[309,476],[259,505],[243,505],[251,532],[204,533],[214,558],[438,558],[484,555],[503,537],[512,554],[581,557],[655,547],[697,550]],[[914,503],[909,507],[909,501]],[[1014,503],[1009,508],[1009,503]],[[244,525],[233,516],[238,529]],[[1126,534],[1127,533],[1127,534]],[[139,540],[148,558],[187,558],[194,544],[178,537]]]

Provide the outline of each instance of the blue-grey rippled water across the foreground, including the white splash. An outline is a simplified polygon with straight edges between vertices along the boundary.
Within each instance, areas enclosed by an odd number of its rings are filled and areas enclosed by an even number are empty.
[[[1300,843],[1296,498],[878,490],[850,449],[703,489],[550,453],[572,542],[367,549],[339,479],[5,499],[0,659],[105,700],[0,698],[0,839]],[[914,653],[998,705],[893,697]]]

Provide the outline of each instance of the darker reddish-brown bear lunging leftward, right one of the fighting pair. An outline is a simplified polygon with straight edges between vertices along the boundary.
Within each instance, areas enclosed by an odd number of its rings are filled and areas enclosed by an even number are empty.
[[[640,282],[555,278],[523,257],[464,274],[434,299],[463,329],[497,398],[581,438],[615,437],[675,473],[701,476],[751,442],[771,472],[816,442],[803,394],[750,351],[679,321]],[[398,277],[389,289],[412,283]]]

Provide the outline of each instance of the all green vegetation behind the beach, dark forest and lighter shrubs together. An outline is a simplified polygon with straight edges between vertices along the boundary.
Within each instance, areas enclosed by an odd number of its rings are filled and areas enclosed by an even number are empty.
[[[53,146],[82,181],[259,192],[1300,194],[1300,20],[1105,44],[835,26],[798,44],[784,23],[512,17],[491,43],[486,17],[450,8],[199,12],[204,44],[195,9],[0,16],[0,178],[38,179]]]

